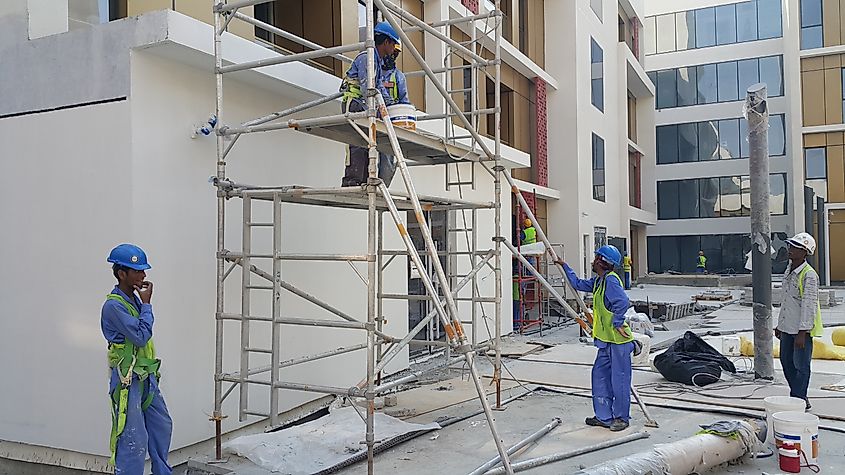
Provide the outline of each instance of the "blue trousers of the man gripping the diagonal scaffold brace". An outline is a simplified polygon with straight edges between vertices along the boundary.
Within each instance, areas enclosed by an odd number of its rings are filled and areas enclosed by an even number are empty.
[[[631,418],[631,353],[634,343],[599,347],[593,363],[593,411],[605,424]]]

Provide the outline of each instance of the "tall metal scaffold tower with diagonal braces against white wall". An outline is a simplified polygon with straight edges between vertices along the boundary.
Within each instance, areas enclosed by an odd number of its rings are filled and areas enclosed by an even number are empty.
[[[464,16],[427,24],[422,20],[402,10],[401,7],[389,0],[367,0],[366,40],[363,43],[324,48],[308,40],[285,32],[273,25],[267,24],[238,10],[244,7],[267,3],[272,0],[240,0],[221,1],[214,6],[214,57],[216,79],[216,117],[220,126],[217,129],[217,174],[213,184],[217,188],[217,300],[216,300],[216,339],[215,339],[215,375],[214,375],[214,413],[212,420],[216,428],[216,455],[220,459],[222,441],[223,403],[225,399],[235,393],[239,397],[238,418],[240,421],[248,417],[260,417],[269,420],[273,427],[278,427],[280,391],[308,391],[321,394],[336,395],[348,398],[364,398],[367,402],[366,414],[362,418],[366,424],[365,441],[367,445],[368,473],[373,473],[373,455],[376,446],[374,434],[374,398],[398,386],[413,381],[422,372],[414,372],[405,377],[382,381],[382,372],[401,351],[410,344],[428,346],[431,348],[445,347],[445,366],[464,362],[471,374],[482,405],[485,416],[496,444],[502,465],[507,473],[513,473],[508,453],[500,437],[492,408],[487,400],[485,389],[476,369],[475,360],[478,351],[492,349],[495,353],[493,361],[493,381],[496,387],[496,405],[501,404],[501,317],[502,317],[502,247],[506,246],[520,260],[522,265],[531,273],[536,274],[537,280],[563,310],[571,317],[583,322],[585,315],[576,313],[551,287],[539,273],[531,266],[516,248],[500,235],[502,230],[502,180],[504,179],[525,214],[537,222],[513,178],[501,164],[501,41],[502,41],[502,12],[499,1],[492,12],[480,15]],[[374,8],[375,7],[375,8]],[[421,66],[422,70],[407,73],[408,76],[425,76],[440,93],[446,104],[446,113],[421,118],[440,119],[445,121],[444,137],[433,137],[431,134],[418,133],[401,128],[394,128],[384,99],[375,84],[376,52],[373,27],[375,25],[375,9],[378,9],[384,20],[388,21],[399,33],[405,54],[410,54]],[[223,37],[226,29],[233,20],[246,22],[278,35],[310,49],[297,54],[285,54],[273,58],[250,61],[241,64],[226,64],[223,60]],[[491,23],[492,21],[492,23]],[[459,42],[452,39],[451,27],[465,24],[471,30],[470,40]],[[403,29],[403,26],[405,28]],[[441,31],[443,29],[443,31]],[[432,69],[425,58],[415,48],[408,37],[409,31],[422,31],[445,43],[446,56],[443,67]],[[479,31],[482,32],[479,37]],[[493,50],[489,51],[485,59],[482,40],[493,36]],[[295,119],[291,116],[314,107],[337,100],[341,94],[336,93],[326,97],[301,104],[287,110],[275,112],[242,124],[231,125],[226,121],[223,91],[224,76],[226,74],[261,68],[270,65],[289,63],[294,61],[310,61],[317,58],[331,57],[349,62],[343,53],[358,52],[366,49],[368,84],[366,87],[367,108],[364,112],[351,112],[312,119]],[[456,64],[458,63],[458,64]],[[452,84],[452,73],[470,70],[471,84],[469,87]],[[438,75],[445,74],[445,80]],[[484,76],[482,76],[484,75]],[[489,77],[494,84],[494,107],[479,109],[478,80],[479,77]],[[444,85],[445,82],[445,85]],[[465,105],[469,110],[460,108],[454,94],[462,94]],[[467,103],[468,101],[468,103]],[[492,146],[479,133],[481,116],[493,116]],[[282,120],[287,119],[287,120]],[[455,122],[457,120],[457,122]],[[301,133],[327,138],[337,142],[366,147],[369,150],[368,181],[365,185],[345,188],[308,188],[302,186],[271,186],[259,187],[238,183],[226,174],[226,159],[232,152],[238,139],[244,134],[269,132],[274,130],[293,129]],[[379,152],[395,156],[399,175],[404,183],[404,192],[391,192],[378,178]],[[469,177],[460,176],[460,165],[470,163]],[[446,187],[457,187],[459,198],[443,198],[423,196],[417,193],[411,179],[409,166],[411,165],[440,165],[446,167]],[[463,187],[475,188],[476,169],[479,174],[487,173],[494,184],[494,199],[491,202],[473,202],[463,199]],[[453,169],[454,171],[450,171]],[[454,177],[454,179],[453,179]],[[226,246],[226,210],[232,200],[241,200],[242,226],[241,249],[233,250]],[[285,205],[314,205],[335,208],[351,208],[367,211],[367,250],[359,255],[336,254],[302,254],[286,253],[283,249],[281,232],[283,226],[282,209]],[[260,213],[255,212],[258,206],[270,206],[272,219],[253,220]],[[478,243],[478,214],[480,210],[491,209],[494,212],[495,235],[489,247],[479,246]],[[402,220],[400,212],[412,214],[416,220],[416,230],[422,245],[415,243],[409,234],[409,225]],[[447,246],[445,250],[438,249],[433,237],[430,213],[443,211],[449,218],[446,223]],[[470,219],[467,219],[469,213]],[[386,214],[386,216],[385,216]],[[460,219],[459,219],[460,218]],[[384,224],[392,222],[399,236],[402,238],[404,249],[391,250],[384,247]],[[410,223],[409,223],[410,224]],[[551,262],[556,262],[558,256],[550,245],[545,233],[537,227],[538,239],[545,243]],[[253,231],[257,228],[272,229],[272,244],[269,251],[253,250]],[[454,235],[463,233],[466,246],[459,249]],[[260,247],[260,246],[259,246]],[[418,247],[421,247],[419,249]],[[396,260],[396,257],[406,257],[417,269],[420,280],[425,289],[425,295],[390,294],[383,287],[383,272]],[[441,262],[445,257],[445,262]],[[458,265],[464,262],[466,273],[461,273]],[[359,277],[367,288],[366,319],[355,318],[353,315],[332,306],[315,295],[296,287],[282,279],[282,263],[286,261],[323,261],[323,262],[354,262],[366,263],[366,275],[359,273]],[[269,267],[269,270],[268,270]],[[352,266],[355,269],[354,265]],[[484,296],[479,289],[479,272],[484,268],[491,268],[495,276],[495,293]],[[239,273],[234,273],[240,269]],[[357,269],[355,270],[356,272]],[[233,275],[240,275],[240,308],[237,312],[227,311],[225,306],[225,283]],[[565,280],[565,279],[564,279]],[[471,296],[466,297],[460,291],[471,286]],[[271,308],[269,314],[253,308],[252,294],[254,292],[270,292]],[[325,310],[332,319],[295,318],[285,315],[280,303],[282,292],[293,294]],[[574,293],[574,292],[573,292]],[[574,293],[577,297],[577,293]],[[384,328],[384,302],[386,300],[425,301],[427,311],[425,316],[410,329],[403,337],[389,335]],[[471,320],[462,320],[458,312],[459,302],[471,302]],[[494,304],[494,331],[488,329],[490,341],[479,341],[481,328],[486,327],[487,314],[484,304]],[[581,307],[583,308],[583,307]],[[479,315],[479,312],[481,315]],[[224,368],[223,350],[228,332],[224,332],[224,322],[239,325],[239,331],[233,332],[239,341],[239,367],[235,371]],[[480,324],[483,323],[482,327]],[[269,325],[270,347],[261,348],[251,341],[250,325]],[[472,325],[472,337],[464,331],[464,324]],[[309,326],[317,328],[335,328],[357,330],[366,334],[366,343],[350,345],[342,348],[322,351],[310,355],[301,355],[281,360],[281,334],[283,328],[290,326]],[[586,325],[582,324],[582,327]],[[445,342],[437,341],[439,330],[445,332]],[[428,338],[415,341],[415,336],[426,330]],[[492,335],[491,335],[492,333]],[[322,386],[302,382],[284,381],[281,370],[294,365],[300,365],[317,360],[350,355],[353,352],[366,350],[366,375],[355,386]],[[453,354],[456,356],[453,357]],[[269,356],[270,364],[256,365],[251,358],[254,355]],[[269,373],[269,376],[268,376]],[[226,386],[226,387],[224,387]],[[263,411],[250,406],[250,388],[264,387],[269,390],[269,404]]]

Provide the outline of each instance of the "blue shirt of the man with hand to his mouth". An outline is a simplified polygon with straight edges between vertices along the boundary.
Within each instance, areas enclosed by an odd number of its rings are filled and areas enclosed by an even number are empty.
[[[138,318],[133,317],[123,306],[123,303],[117,300],[106,300],[100,314],[100,327],[103,330],[103,336],[109,343],[123,343],[126,339],[129,339],[137,347],[146,345],[153,336],[153,321],[155,320],[153,306],[148,303],[141,303],[134,292],[132,295],[126,295],[117,286],[111,293],[126,299],[138,310],[139,316]]]

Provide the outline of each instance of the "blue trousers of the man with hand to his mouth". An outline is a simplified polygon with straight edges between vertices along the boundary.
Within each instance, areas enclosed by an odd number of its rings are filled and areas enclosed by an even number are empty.
[[[109,394],[120,390],[120,378],[117,370],[112,370]],[[155,396],[147,410],[141,409],[141,404],[147,398],[149,391]],[[114,405],[114,401],[109,397]],[[117,407],[114,408],[117,410]],[[117,438],[117,453],[115,455],[115,475],[142,475],[144,460],[149,451],[153,475],[171,475],[173,469],[167,464],[167,454],[170,452],[170,435],[173,432],[173,422],[167,412],[167,405],[158,387],[155,376],[145,381],[132,379],[129,387],[129,404],[126,408],[126,426]]]

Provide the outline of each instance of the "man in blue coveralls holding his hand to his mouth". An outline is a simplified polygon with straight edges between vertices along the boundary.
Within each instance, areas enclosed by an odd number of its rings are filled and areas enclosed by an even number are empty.
[[[109,445],[115,475],[144,473],[149,452],[153,475],[170,475],[167,463],[173,423],[159,390],[153,345],[153,284],[144,251],[121,244],[108,257],[117,285],[106,297],[100,325],[109,344],[109,395],[112,432]]]

